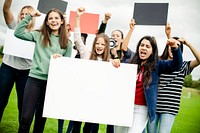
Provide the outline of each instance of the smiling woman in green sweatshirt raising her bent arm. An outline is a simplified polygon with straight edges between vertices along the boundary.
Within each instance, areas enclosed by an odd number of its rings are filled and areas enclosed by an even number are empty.
[[[63,13],[51,9],[39,30],[26,32],[25,27],[32,17],[40,16],[39,11],[27,15],[18,25],[14,35],[22,40],[35,42],[33,64],[24,91],[22,116],[19,133],[28,133],[37,108],[37,125],[34,133],[42,133],[46,118],[42,117],[50,58],[71,57],[72,44],[68,40]],[[37,127],[36,127],[37,126]]]

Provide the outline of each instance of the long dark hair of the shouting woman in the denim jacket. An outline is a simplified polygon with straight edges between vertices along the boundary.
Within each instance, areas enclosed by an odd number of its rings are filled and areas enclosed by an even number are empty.
[[[141,45],[142,40],[144,39],[148,40],[152,46],[152,54],[149,56],[146,63],[143,65],[144,66],[143,86],[148,88],[149,84],[152,82],[151,73],[156,68],[156,62],[158,60],[158,47],[154,37],[144,36],[143,38],[140,39],[140,41],[137,44],[136,53],[131,63],[138,64],[138,72],[141,70],[142,68],[141,63],[143,60],[141,60],[139,57],[139,47]]]

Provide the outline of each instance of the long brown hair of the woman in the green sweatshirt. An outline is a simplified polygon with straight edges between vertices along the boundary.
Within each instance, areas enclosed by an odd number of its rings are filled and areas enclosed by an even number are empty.
[[[59,44],[60,44],[60,47],[61,47],[61,48],[65,49],[65,48],[67,48],[67,44],[68,44],[68,40],[69,40],[68,37],[67,37],[66,22],[65,22],[63,13],[62,13],[60,10],[56,9],[56,8],[51,9],[51,10],[47,13],[47,15],[46,15],[46,17],[45,17],[45,20],[44,20],[44,22],[43,22],[43,25],[42,25],[42,27],[41,27],[40,30],[39,30],[39,31],[42,33],[42,35],[43,35],[43,38],[42,38],[42,39],[43,39],[43,40],[42,40],[43,45],[44,45],[45,47],[47,47],[48,45],[49,45],[49,46],[52,45],[52,44],[51,44],[51,41],[50,41],[50,34],[51,34],[52,30],[49,28],[49,26],[48,26],[47,23],[46,23],[46,22],[48,21],[49,14],[50,14],[51,12],[56,12],[56,13],[58,13],[59,16],[60,16],[60,18],[61,18],[61,20],[63,21],[63,24],[61,25],[61,27],[60,27],[60,29],[59,29]]]

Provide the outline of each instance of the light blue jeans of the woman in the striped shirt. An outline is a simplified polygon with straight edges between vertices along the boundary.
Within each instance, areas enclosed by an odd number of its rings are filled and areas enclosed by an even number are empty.
[[[170,133],[175,115],[156,113],[155,119],[147,124],[148,133]]]

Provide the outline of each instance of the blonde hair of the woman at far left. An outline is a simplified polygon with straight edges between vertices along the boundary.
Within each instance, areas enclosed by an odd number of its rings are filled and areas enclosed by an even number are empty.
[[[29,13],[31,13],[34,10],[34,8],[32,6],[29,6],[29,5],[22,7],[22,9],[20,10],[20,12],[18,14],[18,20],[17,20],[18,23],[21,22],[20,14],[21,14],[22,10],[24,10],[26,8],[28,9]],[[35,17],[32,17],[31,21],[26,26],[26,29],[31,31],[31,30],[33,30],[34,26],[35,26]]]

